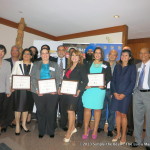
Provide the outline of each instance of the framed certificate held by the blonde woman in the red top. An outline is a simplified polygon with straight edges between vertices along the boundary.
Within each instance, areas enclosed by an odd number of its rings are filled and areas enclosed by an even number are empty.
[[[62,80],[61,90],[62,94],[75,95],[77,93],[78,81]]]

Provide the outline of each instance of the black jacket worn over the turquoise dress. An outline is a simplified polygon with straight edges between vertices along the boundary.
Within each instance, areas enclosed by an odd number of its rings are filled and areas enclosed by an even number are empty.
[[[87,73],[90,73],[90,67],[92,66],[93,61],[89,61],[86,64],[86,70]],[[111,75],[111,68],[110,64],[107,61],[103,61],[103,64],[107,66],[106,68],[102,68],[102,73],[105,75],[105,85],[107,86],[107,83],[111,81],[112,75]]]

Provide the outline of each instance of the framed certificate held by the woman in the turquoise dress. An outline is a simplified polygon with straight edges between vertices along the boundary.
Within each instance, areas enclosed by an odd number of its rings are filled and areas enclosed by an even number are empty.
[[[103,73],[88,74],[88,79],[89,79],[88,86],[91,87],[105,86]]]

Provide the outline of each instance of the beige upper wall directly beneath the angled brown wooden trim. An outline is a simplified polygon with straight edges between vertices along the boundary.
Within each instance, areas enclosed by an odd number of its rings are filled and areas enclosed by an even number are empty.
[[[0,37],[0,44],[5,45],[7,49],[7,54],[5,55],[5,58],[8,58],[10,57],[11,47],[15,45],[17,29],[0,24]],[[50,41],[50,39],[24,32],[23,48],[28,48],[32,46],[34,40]],[[122,43],[122,32],[75,38],[63,41],[75,43]]]

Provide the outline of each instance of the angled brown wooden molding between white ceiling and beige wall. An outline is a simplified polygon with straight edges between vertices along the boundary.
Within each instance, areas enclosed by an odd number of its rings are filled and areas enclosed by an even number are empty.
[[[13,21],[10,21],[10,20],[4,19],[4,18],[0,18],[0,23],[3,25],[9,26],[9,27],[16,28],[16,29],[18,28],[18,25],[19,25],[18,23],[15,23]],[[47,34],[45,32],[30,28],[27,26],[25,27],[24,31],[38,35],[38,36],[41,36],[41,37],[44,37],[44,38],[47,38],[47,39],[51,39],[54,41],[122,32],[123,33],[122,43],[123,43],[123,45],[126,45],[127,44],[127,38],[128,38],[128,26],[127,25],[121,25],[121,26],[85,31],[85,32],[62,35],[62,36],[53,36],[53,35]]]

